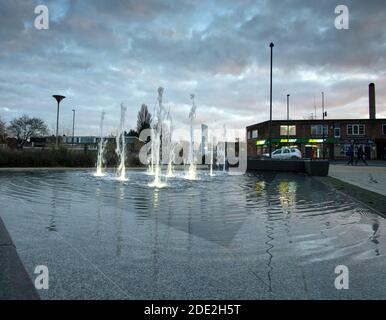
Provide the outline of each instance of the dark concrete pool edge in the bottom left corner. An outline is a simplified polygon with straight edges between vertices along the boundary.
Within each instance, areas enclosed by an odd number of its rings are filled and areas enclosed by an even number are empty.
[[[0,300],[40,299],[1,217],[0,261]]]

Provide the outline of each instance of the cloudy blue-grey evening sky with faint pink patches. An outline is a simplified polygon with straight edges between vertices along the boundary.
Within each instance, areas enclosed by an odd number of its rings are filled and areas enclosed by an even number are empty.
[[[37,30],[34,8],[49,8]],[[350,29],[337,30],[335,7],[350,10]],[[274,118],[368,117],[375,82],[377,116],[386,118],[384,0],[0,0],[0,117],[24,113],[61,132],[96,135],[102,110],[113,132],[120,103],[135,127],[142,103],[153,109],[157,88],[176,125],[185,126],[189,94],[197,123],[244,128],[269,118],[269,43],[274,47]]]

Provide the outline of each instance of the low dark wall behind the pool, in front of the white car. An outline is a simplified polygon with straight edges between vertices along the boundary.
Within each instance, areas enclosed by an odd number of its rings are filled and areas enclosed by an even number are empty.
[[[328,160],[276,160],[251,159],[247,161],[248,171],[303,172],[311,176],[327,176]]]

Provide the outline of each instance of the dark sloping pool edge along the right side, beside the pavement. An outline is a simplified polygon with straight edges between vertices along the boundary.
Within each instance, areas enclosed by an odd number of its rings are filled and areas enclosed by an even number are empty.
[[[386,218],[386,196],[330,176],[313,178],[335,189],[337,192],[349,196],[381,217]]]

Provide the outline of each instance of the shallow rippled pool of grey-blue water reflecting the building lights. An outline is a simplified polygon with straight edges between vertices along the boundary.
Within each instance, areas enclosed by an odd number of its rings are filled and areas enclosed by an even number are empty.
[[[386,298],[385,220],[317,179],[0,172],[0,215],[43,299]],[[349,268],[337,290],[335,267]]]

